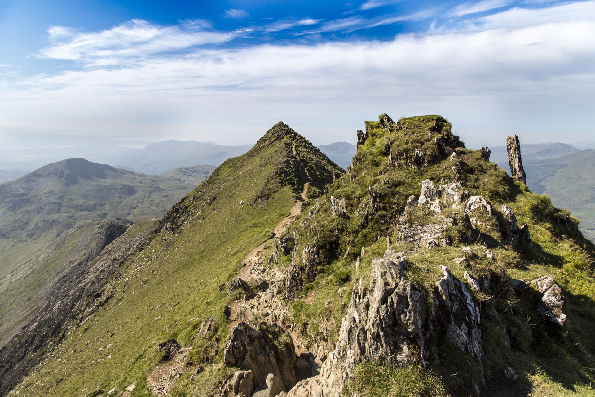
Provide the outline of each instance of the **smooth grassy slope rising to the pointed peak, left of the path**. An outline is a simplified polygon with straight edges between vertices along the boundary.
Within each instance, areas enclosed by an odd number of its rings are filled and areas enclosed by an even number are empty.
[[[39,370],[19,390],[29,396],[79,396],[95,388],[121,390],[134,380],[142,385],[161,357],[156,343],[175,337],[187,344],[200,324],[192,321],[196,317],[217,315],[223,343],[228,298],[218,285],[272,236],[306,182],[315,195],[333,180],[333,171],[340,168],[285,124],[276,124],[165,215],[152,242],[104,287],[102,296],[109,300],[84,324],[64,326],[69,335],[52,339],[60,344],[45,351]]]

